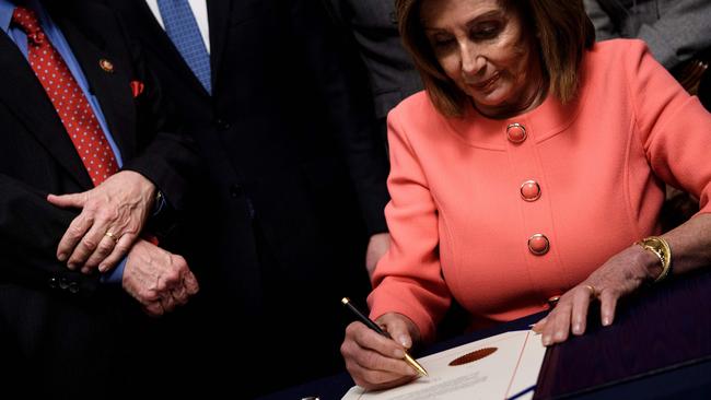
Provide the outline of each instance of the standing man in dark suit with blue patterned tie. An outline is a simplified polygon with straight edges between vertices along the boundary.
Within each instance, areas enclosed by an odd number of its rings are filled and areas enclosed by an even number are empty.
[[[387,163],[372,99],[322,4],[107,3],[142,42],[205,162],[186,257],[205,297],[200,330],[217,343],[209,356],[223,358],[198,366],[206,387],[246,398],[342,368],[339,301],[364,297],[366,248],[387,247]],[[193,39],[203,38],[193,46],[167,10],[188,3]],[[186,47],[209,57],[207,79]],[[236,378],[236,363],[266,385]]]

